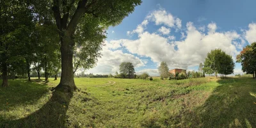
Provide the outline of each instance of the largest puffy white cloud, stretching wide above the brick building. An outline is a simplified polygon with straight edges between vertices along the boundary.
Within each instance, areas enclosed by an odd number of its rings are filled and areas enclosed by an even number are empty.
[[[125,40],[121,45],[132,54],[146,56],[155,63],[166,61],[170,68],[188,68],[198,65],[204,61],[207,52],[212,49],[220,48],[232,56],[236,56],[235,41],[241,40],[241,36],[236,31],[226,31],[223,33],[215,32],[216,24],[208,24],[211,33],[202,33],[196,29],[193,22],[188,22],[186,35],[182,32],[184,40],[171,43],[167,38],[148,33],[145,31],[138,35],[137,40]],[[177,49],[175,49],[177,47]]]

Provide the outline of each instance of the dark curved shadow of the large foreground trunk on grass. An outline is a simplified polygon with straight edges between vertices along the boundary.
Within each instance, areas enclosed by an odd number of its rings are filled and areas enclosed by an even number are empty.
[[[44,86],[40,84],[41,86]],[[67,127],[66,113],[73,93],[55,91],[42,108],[18,120],[3,120],[0,127]],[[17,104],[20,104],[17,102]]]

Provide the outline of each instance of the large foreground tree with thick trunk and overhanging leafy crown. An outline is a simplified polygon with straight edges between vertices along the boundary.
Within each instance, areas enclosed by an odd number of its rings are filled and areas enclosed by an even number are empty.
[[[47,9],[51,8],[53,12],[61,42],[61,80],[56,89],[73,92],[76,90],[73,73],[74,39],[81,34],[76,31],[83,31],[81,36],[87,42],[93,40],[90,35],[105,35],[108,26],[122,22],[141,0],[37,0],[32,3],[37,13],[51,17],[51,11]]]

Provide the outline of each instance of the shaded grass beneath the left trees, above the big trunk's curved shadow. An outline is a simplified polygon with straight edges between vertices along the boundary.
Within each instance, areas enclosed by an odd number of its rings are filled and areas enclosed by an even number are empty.
[[[2,109],[33,104],[47,93],[49,88],[44,84],[33,83],[27,79],[9,80],[8,83],[9,87],[0,87],[0,104],[5,104],[0,106]]]

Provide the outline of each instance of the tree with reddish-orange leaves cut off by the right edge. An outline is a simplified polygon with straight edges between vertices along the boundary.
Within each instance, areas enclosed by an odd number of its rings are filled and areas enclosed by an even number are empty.
[[[246,74],[253,74],[255,78],[256,72],[256,42],[251,45],[246,45],[243,51],[236,56],[236,61],[241,63],[243,72]]]

